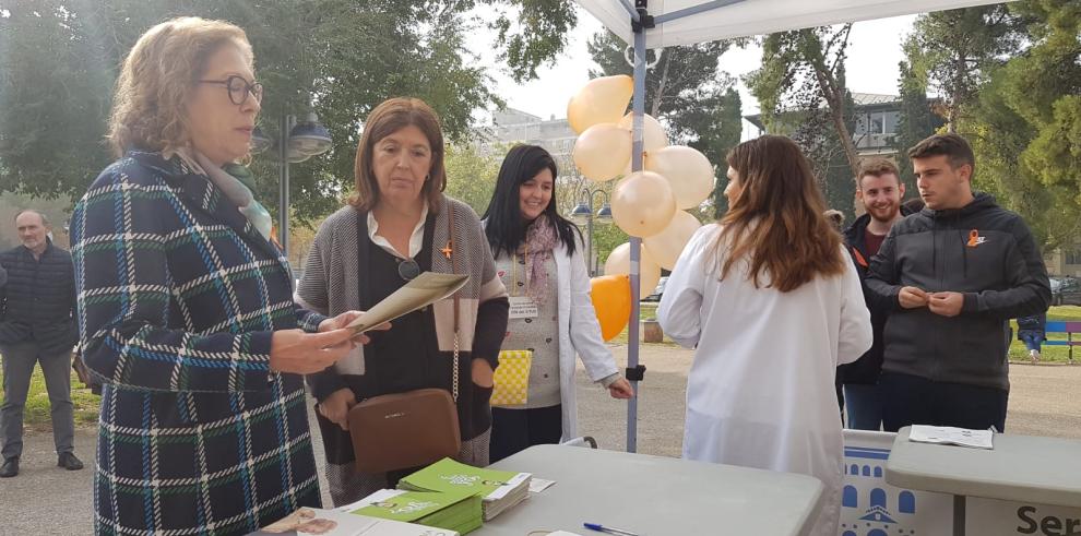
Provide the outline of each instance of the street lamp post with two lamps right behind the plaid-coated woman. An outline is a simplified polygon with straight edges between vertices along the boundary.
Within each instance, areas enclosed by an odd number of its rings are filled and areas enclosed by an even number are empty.
[[[278,122],[277,163],[278,163],[278,210],[277,239],[282,253],[289,255],[289,164],[307,160],[330,151],[333,141],[330,131],[319,122],[319,117],[309,112],[302,122],[297,122],[295,116],[283,114]],[[275,145],[274,141],[261,130],[256,129],[251,136],[252,154],[262,153]]]

